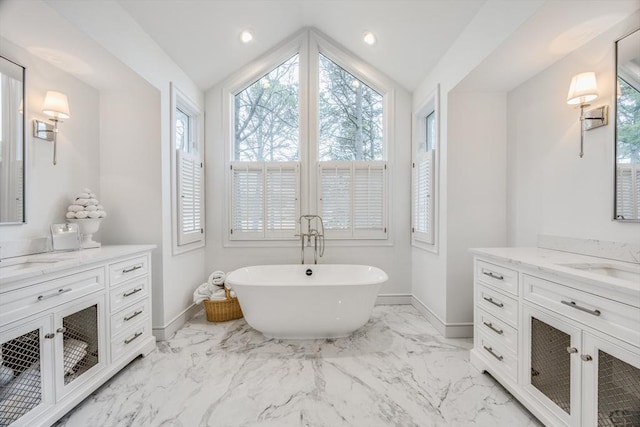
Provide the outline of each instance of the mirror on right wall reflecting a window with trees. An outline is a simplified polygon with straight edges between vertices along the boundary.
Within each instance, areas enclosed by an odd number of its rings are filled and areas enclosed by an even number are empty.
[[[616,41],[613,218],[640,221],[640,29]]]

